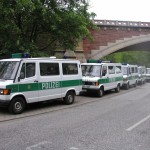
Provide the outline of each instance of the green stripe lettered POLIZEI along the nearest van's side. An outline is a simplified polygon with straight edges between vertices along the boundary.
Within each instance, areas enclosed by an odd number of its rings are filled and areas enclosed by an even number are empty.
[[[15,92],[27,92],[27,91],[38,91],[47,90],[54,88],[63,88],[71,86],[82,85],[82,80],[67,80],[67,81],[50,81],[50,82],[40,82],[40,83],[27,83],[27,84],[12,84],[7,85],[7,89],[11,89],[12,93]]]

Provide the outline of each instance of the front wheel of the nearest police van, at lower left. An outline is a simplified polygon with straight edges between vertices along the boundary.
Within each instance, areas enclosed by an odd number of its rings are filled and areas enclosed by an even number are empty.
[[[21,114],[25,110],[25,106],[25,100],[22,97],[16,97],[12,99],[8,109],[11,114]]]

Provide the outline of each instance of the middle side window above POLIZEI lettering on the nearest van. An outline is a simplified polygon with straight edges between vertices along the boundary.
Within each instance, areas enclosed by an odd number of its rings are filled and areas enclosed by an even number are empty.
[[[41,76],[59,75],[59,64],[58,63],[40,63],[40,75]]]

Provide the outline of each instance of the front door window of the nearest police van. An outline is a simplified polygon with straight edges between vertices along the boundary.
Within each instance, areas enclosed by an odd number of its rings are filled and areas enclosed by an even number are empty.
[[[35,63],[23,63],[21,68],[21,79],[35,76]]]

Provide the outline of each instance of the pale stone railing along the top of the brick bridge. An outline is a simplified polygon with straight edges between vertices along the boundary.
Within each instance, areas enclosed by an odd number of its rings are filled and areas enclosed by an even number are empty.
[[[125,26],[125,27],[150,28],[150,22],[117,21],[117,20],[94,20],[94,23],[96,25],[99,25],[99,26]]]

